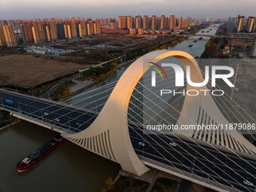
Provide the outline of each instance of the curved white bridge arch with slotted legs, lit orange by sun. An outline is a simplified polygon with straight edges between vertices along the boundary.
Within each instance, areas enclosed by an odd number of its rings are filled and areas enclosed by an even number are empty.
[[[82,148],[86,148],[88,151],[92,151],[95,154],[99,154],[102,157],[120,163],[123,170],[136,175],[142,175],[147,172],[149,170],[148,167],[139,160],[130,141],[127,111],[136,84],[139,82],[139,79],[142,78],[144,72],[148,70],[148,66],[143,65],[143,60],[151,59],[152,62],[157,62],[169,56],[179,59],[185,69],[187,65],[190,66],[190,74],[194,82],[203,81],[203,76],[197,61],[190,54],[178,50],[156,50],[147,53],[133,62],[133,64],[123,72],[123,75],[120,77],[119,81],[117,81],[114,90],[102,108],[102,111],[99,112],[96,120],[94,120],[86,130],[83,130],[80,133],[65,133],[62,134],[63,137],[69,139],[71,142],[75,142]],[[144,67],[147,68],[144,69]],[[197,89],[202,88],[203,87],[197,87]],[[187,89],[190,89],[190,85],[187,85]],[[195,87],[193,87],[193,89],[195,89]],[[215,105],[211,96],[206,97],[202,95],[199,99],[193,102],[191,99],[194,99],[194,97],[185,97],[181,115],[178,118],[179,122],[188,124],[191,120],[192,122],[197,122],[198,115],[202,114],[197,114],[194,111],[199,110],[199,108],[200,110],[201,108],[204,108],[204,110],[209,111],[211,117],[215,117],[216,123],[228,123],[218,110],[218,107]],[[218,112],[212,114],[211,108],[215,108]],[[193,136],[193,133],[185,134],[190,137]],[[224,134],[224,136],[226,135],[227,134]],[[235,139],[238,139],[242,143],[242,145],[250,146],[249,150],[256,153],[254,146],[249,145],[250,143],[247,143],[245,139],[242,139],[243,137],[239,135],[239,133],[235,133],[234,136]]]

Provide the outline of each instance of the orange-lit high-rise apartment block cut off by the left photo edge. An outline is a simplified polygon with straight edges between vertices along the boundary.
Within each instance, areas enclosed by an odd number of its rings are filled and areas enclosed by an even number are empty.
[[[13,26],[0,26],[0,46],[16,47],[17,40],[14,34]]]

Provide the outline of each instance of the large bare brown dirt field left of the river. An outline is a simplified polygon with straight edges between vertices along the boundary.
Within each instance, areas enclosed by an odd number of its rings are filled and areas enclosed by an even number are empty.
[[[33,55],[6,55],[0,56],[0,82],[33,87],[85,68],[86,65]]]

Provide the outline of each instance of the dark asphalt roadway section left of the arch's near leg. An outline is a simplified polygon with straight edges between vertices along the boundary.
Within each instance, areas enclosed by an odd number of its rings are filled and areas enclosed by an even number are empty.
[[[0,90],[0,108],[20,112],[21,114],[34,117],[44,122],[59,126],[66,132],[80,132],[86,129],[96,118],[93,113],[86,113],[65,105],[56,105],[46,102],[44,99],[18,95]],[[13,105],[5,103],[5,99],[13,101]],[[56,120],[57,119],[57,120]],[[59,120],[59,121],[58,121]]]

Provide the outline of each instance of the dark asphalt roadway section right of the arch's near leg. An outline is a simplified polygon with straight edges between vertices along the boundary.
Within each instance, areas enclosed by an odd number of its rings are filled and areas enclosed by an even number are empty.
[[[136,126],[130,126],[130,138],[136,153],[143,157],[175,166],[187,172],[193,172],[203,178],[209,178],[230,187],[233,185],[233,187],[242,191],[255,190],[255,187],[243,184],[244,178],[256,184],[255,160],[245,158],[251,166],[234,154],[224,152],[227,154],[227,157],[225,157],[214,148],[202,146],[206,148],[205,151],[194,142],[179,140],[174,136],[148,136],[143,134],[143,131]],[[145,146],[138,145],[139,142],[144,142]],[[169,142],[175,142],[177,146],[172,147]]]

